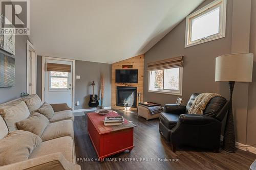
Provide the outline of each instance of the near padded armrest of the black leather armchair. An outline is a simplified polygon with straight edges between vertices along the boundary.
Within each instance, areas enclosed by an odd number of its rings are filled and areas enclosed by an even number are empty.
[[[216,118],[203,114],[181,114],[178,122],[189,125],[206,125],[218,121]]]

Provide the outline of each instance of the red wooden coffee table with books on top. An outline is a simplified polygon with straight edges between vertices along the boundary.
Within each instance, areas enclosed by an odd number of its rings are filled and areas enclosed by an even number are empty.
[[[124,119],[122,125],[104,126],[106,116],[120,116],[114,111],[104,116],[98,113],[87,113],[87,116],[88,134],[99,159],[133,150],[133,128],[136,127],[133,123]]]

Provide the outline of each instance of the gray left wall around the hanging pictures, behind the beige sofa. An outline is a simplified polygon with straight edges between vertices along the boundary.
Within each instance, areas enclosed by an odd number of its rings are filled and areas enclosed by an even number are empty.
[[[26,46],[28,39],[28,36],[15,36],[15,56],[10,55],[15,58],[15,86],[0,88],[0,103],[17,99],[21,92],[26,92]]]

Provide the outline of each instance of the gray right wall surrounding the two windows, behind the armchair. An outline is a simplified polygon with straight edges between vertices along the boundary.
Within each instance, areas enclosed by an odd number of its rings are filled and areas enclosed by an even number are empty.
[[[211,1],[205,1],[199,8],[205,6]],[[232,20],[232,2],[227,4],[226,19],[226,37],[194,45],[184,47],[185,44],[185,19],[171,32],[169,32],[162,40],[145,54],[145,65],[148,62],[158,61],[162,59],[172,58],[184,55],[183,67],[183,101],[186,104],[192,93],[198,92],[216,92],[220,86],[225,88],[224,95],[228,96],[227,83],[222,85],[215,82],[215,58],[223,54],[231,52],[231,20]],[[144,71],[144,87],[147,86],[148,72]],[[223,93],[222,93],[223,94]],[[152,101],[156,103],[170,104],[175,103],[177,95],[160,94],[147,92],[144,88],[144,101]]]

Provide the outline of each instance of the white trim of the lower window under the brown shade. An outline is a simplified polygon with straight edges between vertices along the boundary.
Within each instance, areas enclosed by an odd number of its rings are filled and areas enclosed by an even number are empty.
[[[171,95],[179,95],[182,96],[182,85],[183,85],[183,67],[179,69],[179,90],[150,90],[150,71],[148,71],[148,82],[147,82],[147,91],[154,93],[162,93],[162,94],[171,94]]]

